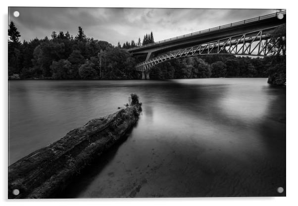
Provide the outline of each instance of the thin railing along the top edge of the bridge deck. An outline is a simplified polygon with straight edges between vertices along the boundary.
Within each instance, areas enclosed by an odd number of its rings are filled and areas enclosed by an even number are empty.
[[[267,15],[264,15],[264,16],[259,16],[259,17],[254,17],[254,18],[251,18],[251,19],[246,19],[246,20],[243,20],[243,21],[238,21],[238,22],[234,22],[234,23],[230,23],[230,24],[225,24],[225,25],[222,25],[222,26],[201,30],[199,32],[194,32],[194,33],[190,33],[190,34],[186,34],[186,35],[181,35],[181,36],[178,36],[178,37],[173,37],[173,38],[162,40],[162,41],[156,41],[154,43],[148,43],[148,44],[145,44],[145,45],[142,45],[142,46],[136,46],[136,47],[133,47],[133,48],[129,48],[127,50],[131,51],[131,50],[134,50],[134,49],[144,48],[144,47],[148,47],[148,46],[152,46],[152,45],[156,45],[156,44],[165,43],[165,42],[168,42],[168,41],[175,41],[175,40],[183,39],[183,38],[186,38],[186,37],[205,34],[205,33],[208,33],[208,32],[214,32],[214,31],[230,28],[230,27],[233,27],[233,26],[239,26],[239,25],[248,24],[248,23],[251,23],[251,22],[257,22],[257,21],[260,21],[260,20],[275,17],[278,14],[286,14],[286,11],[280,11],[280,12],[276,12],[276,13],[272,13],[272,14],[267,14]]]

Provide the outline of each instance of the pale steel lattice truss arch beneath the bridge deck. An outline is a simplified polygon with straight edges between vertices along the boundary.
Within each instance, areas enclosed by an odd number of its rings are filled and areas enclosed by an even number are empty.
[[[160,54],[159,56],[147,59],[145,62],[137,64],[136,70],[148,72],[150,68],[161,62],[175,58],[198,55],[233,54],[267,56],[269,54],[268,46],[274,46],[272,44],[272,40],[270,39],[270,33],[274,28],[230,36],[216,41],[209,41],[188,48],[177,49],[164,54]],[[277,41],[275,42],[275,44],[276,43]],[[270,55],[275,55],[280,52],[281,50],[278,50],[275,53],[270,53]]]

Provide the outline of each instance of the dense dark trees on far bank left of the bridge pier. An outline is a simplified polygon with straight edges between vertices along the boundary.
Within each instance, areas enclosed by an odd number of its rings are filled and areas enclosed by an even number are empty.
[[[136,79],[135,58],[107,41],[87,38],[79,27],[51,38],[19,41],[20,33],[8,27],[8,76],[20,79]]]

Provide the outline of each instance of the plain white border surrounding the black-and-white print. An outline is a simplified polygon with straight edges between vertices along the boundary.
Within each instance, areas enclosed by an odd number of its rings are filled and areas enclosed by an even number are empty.
[[[88,205],[107,204],[107,205],[164,205],[171,206],[198,205],[208,204],[211,206],[251,206],[251,205],[297,205],[296,199],[298,192],[298,166],[297,166],[297,151],[298,132],[297,132],[297,52],[294,51],[294,45],[290,42],[296,40],[297,32],[297,11],[298,7],[295,1],[282,0],[188,0],[177,1],[173,0],[108,0],[108,1],[61,1],[61,0],[14,0],[1,1],[1,169],[0,169],[0,200],[4,205],[46,205],[63,204],[65,206],[81,206],[84,202]],[[7,25],[8,6],[60,6],[60,7],[177,7],[177,8],[283,8],[287,9],[287,197],[263,197],[263,198],[143,198],[143,199],[69,199],[69,200],[7,200],[7,154],[8,154],[8,81],[7,81]]]

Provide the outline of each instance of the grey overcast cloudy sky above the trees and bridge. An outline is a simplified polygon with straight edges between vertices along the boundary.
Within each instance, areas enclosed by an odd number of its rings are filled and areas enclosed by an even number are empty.
[[[20,16],[14,17],[13,12]],[[10,7],[9,21],[18,28],[20,40],[50,37],[52,31],[76,36],[81,26],[87,37],[108,41],[135,40],[153,32],[160,41],[232,22],[242,21],[276,9],[165,9],[165,8],[53,8]]]

